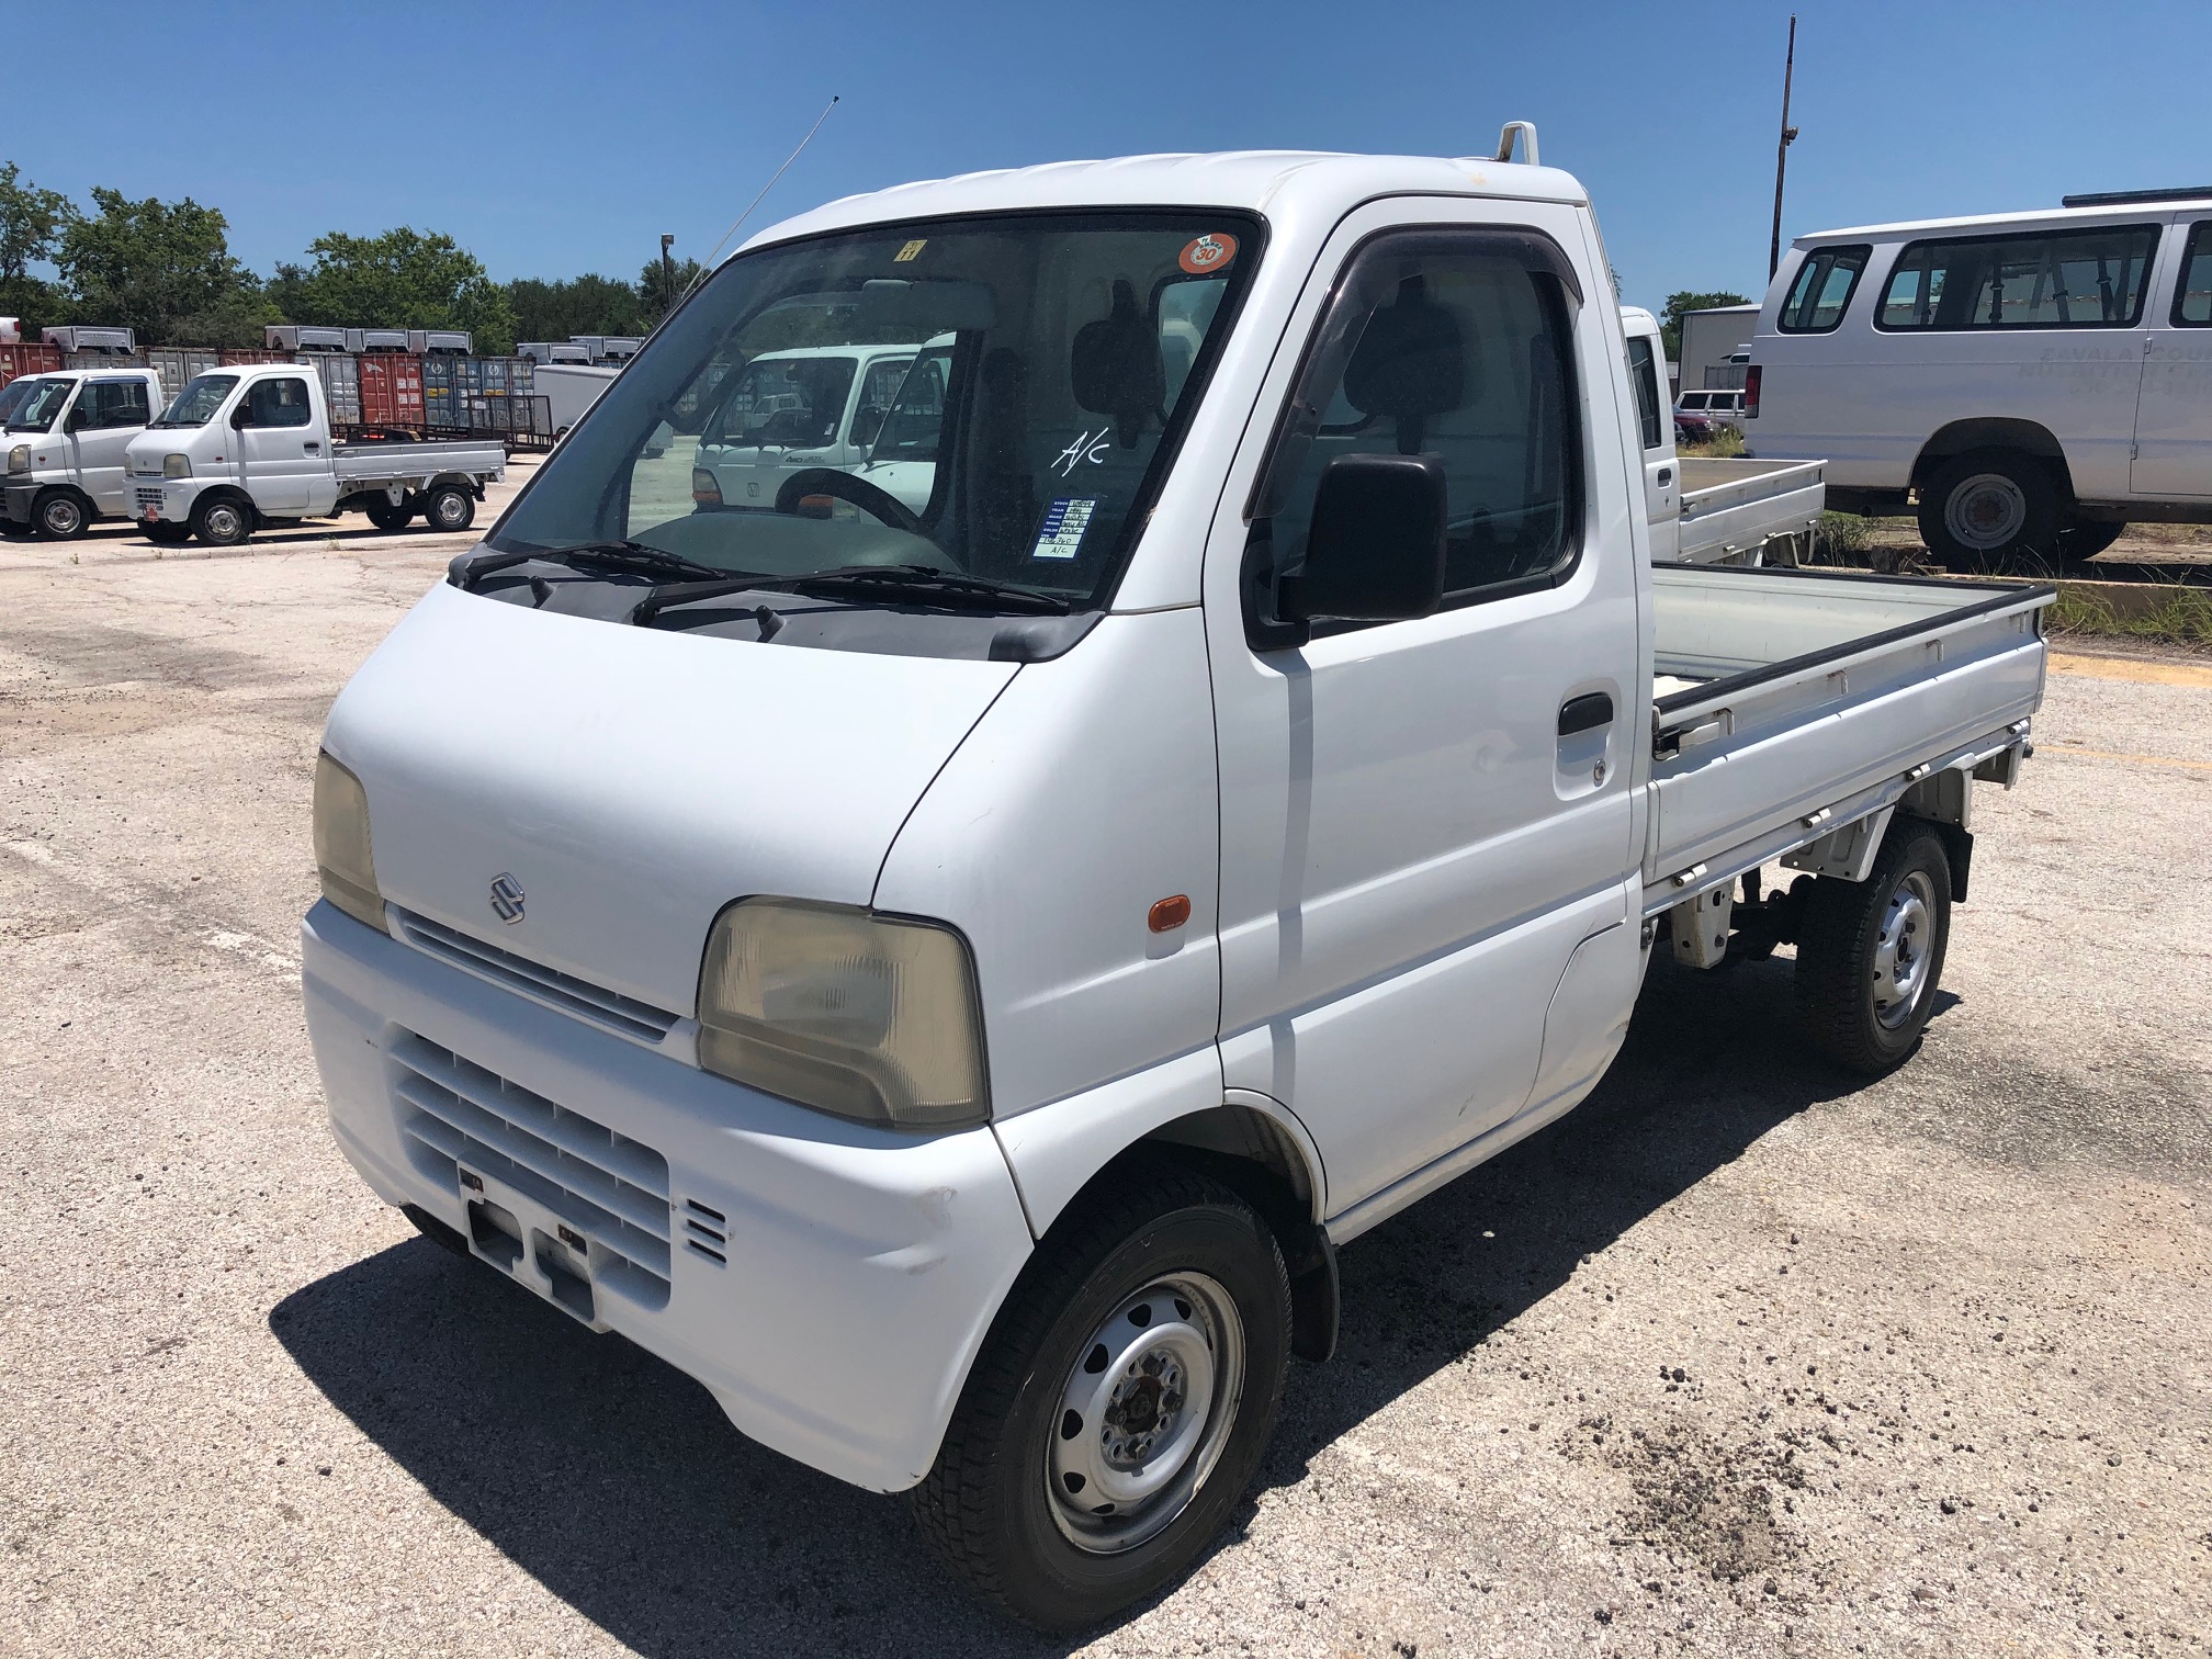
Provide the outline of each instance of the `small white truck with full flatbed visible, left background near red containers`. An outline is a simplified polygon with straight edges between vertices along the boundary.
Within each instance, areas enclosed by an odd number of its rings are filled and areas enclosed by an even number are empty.
[[[330,438],[323,378],[292,363],[197,376],[124,460],[131,518],[155,542],[234,546],[270,522],[363,511],[383,531],[422,515],[453,533],[476,522],[484,484],[507,476],[500,442]]]

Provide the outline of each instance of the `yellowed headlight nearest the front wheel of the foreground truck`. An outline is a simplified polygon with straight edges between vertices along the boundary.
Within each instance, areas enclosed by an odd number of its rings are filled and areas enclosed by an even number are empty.
[[[865,909],[745,898],[717,916],[699,1064],[863,1124],[991,1117],[967,940]]]

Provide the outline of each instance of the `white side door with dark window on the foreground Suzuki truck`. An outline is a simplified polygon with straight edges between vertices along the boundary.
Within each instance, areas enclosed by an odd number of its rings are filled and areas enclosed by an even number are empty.
[[[1436,223],[1467,201],[1420,204],[1420,230],[1394,228],[1405,201],[1347,217],[1208,542],[1223,1075],[1305,1121],[1332,1212],[1533,1104],[1548,1051],[1601,1068],[1641,960],[1621,334],[1562,254],[1586,250],[1573,210],[1511,208],[1513,230]],[[1442,456],[1449,597],[1292,644],[1267,595],[1347,453]],[[1595,1029],[1548,1035],[1571,960]]]

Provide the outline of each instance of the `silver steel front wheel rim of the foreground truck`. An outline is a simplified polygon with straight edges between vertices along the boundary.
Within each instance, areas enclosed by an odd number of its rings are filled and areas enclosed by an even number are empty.
[[[1077,1349],[1046,1425],[1060,1535],[1091,1555],[1157,1537],[1221,1462],[1243,1374],[1243,1318],[1217,1279],[1166,1274],[1124,1296]]]

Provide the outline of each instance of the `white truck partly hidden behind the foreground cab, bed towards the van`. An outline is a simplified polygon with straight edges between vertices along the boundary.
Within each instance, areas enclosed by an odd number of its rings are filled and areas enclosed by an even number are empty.
[[[1677,456],[1659,319],[1621,305],[1628,385],[1644,445],[1644,498],[1659,564],[1803,564],[1827,487],[1818,460]]]

